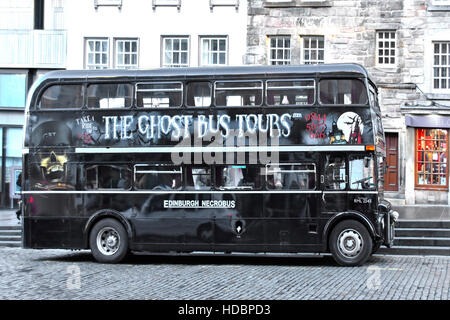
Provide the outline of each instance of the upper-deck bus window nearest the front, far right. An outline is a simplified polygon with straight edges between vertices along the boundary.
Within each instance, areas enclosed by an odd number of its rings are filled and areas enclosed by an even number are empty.
[[[321,104],[367,104],[366,86],[358,79],[323,79],[319,83]]]

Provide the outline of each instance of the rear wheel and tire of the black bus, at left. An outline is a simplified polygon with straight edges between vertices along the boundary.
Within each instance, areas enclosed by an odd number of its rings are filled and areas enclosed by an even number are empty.
[[[92,227],[89,245],[98,262],[118,263],[128,253],[128,234],[116,219],[102,219]]]

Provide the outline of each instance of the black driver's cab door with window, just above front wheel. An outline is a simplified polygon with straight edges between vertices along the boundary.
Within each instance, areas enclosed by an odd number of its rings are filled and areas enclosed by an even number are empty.
[[[325,153],[322,158],[321,211],[322,215],[332,215],[347,210],[346,155],[344,153]],[[327,219],[327,217],[324,217]]]

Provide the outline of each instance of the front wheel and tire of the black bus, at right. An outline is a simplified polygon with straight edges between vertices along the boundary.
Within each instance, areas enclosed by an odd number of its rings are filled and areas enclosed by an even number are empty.
[[[359,266],[372,254],[373,240],[367,228],[360,222],[344,220],[331,231],[329,248],[338,264]]]

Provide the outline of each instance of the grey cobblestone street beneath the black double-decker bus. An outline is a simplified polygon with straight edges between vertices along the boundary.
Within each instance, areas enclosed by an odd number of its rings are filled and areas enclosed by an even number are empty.
[[[0,299],[449,299],[450,257],[132,256],[0,248]]]

